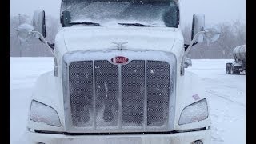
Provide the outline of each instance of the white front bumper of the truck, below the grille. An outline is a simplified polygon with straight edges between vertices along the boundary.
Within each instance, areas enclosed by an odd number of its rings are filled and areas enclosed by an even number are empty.
[[[210,129],[175,134],[64,135],[27,131],[29,144],[210,144]]]

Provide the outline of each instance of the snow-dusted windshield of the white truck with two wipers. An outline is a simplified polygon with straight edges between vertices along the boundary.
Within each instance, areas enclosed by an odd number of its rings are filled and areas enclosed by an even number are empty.
[[[70,25],[93,26],[178,27],[179,15],[174,0],[62,0],[63,12],[70,14]]]

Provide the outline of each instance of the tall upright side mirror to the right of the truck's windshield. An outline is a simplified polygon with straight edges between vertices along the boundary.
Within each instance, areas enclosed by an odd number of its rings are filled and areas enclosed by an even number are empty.
[[[193,40],[194,36],[198,34],[198,32],[204,30],[205,27],[205,15],[204,14],[194,14],[193,22],[192,22],[192,34],[191,40]],[[200,34],[195,42],[203,42],[203,34]]]

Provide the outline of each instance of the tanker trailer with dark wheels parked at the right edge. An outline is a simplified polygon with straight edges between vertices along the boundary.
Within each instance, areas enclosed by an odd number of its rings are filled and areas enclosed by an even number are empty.
[[[226,74],[246,72],[246,45],[237,46],[233,50],[234,62],[226,63]]]

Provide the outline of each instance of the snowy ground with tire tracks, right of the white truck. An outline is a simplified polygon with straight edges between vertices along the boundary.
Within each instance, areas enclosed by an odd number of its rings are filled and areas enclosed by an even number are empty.
[[[233,59],[192,60],[188,70],[198,74],[210,98],[213,144],[246,143],[246,75],[226,74]]]

